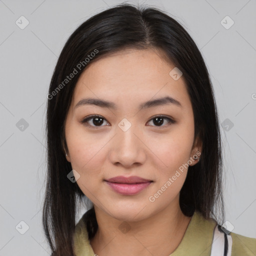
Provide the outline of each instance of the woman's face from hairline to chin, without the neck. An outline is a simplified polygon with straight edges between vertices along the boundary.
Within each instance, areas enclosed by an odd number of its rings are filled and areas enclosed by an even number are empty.
[[[65,120],[66,159],[79,174],[78,186],[95,207],[116,219],[139,220],[178,207],[187,165],[197,163],[192,157],[200,147],[192,148],[194,120],[185,81],[182,75],[170,76],[175,66],[163,54],[130,49],[91,63],[77,81]],[[141,107],[164,97],[176,103]],[[114,107],[76,106],[85,98]],[[118,186],[106,181],[116,176],[151,182]]]

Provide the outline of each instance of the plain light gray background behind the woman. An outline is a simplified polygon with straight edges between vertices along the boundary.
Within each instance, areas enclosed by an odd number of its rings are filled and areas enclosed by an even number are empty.
[[[50,251],[41,225],[50,78],[71,32],[91,15],[120,2],[0,0],[0,255]],[[143,2],[180,21],[203,55],[221,123],[226,220],[233,232],[256,237],[256,1]],[[15,23],[21,23],[21,15],[29,21],[24,29]],[[234,21],[228,29],[223,26],[231,24],[223,19],[226,15]],[[81,208],[77,219],[84,211]],[[24,234],[22,220],[29,227]]]

